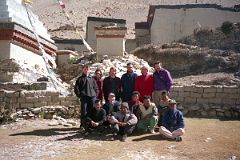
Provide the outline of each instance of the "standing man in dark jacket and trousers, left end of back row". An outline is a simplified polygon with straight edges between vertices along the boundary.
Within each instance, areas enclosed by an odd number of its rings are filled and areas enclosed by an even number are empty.
[[[93,104],[98,95],[98,85],[89,73],[90,67],[88,65],[84,65],[82,75],[77,79],[74,86],[74,92],[81,100],[80,131],[84,130],[83,124],[86,121],[86,115],[92,110]]]

